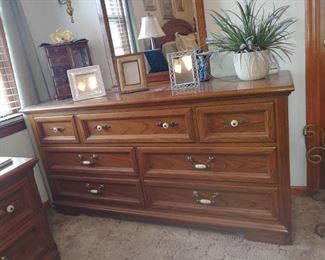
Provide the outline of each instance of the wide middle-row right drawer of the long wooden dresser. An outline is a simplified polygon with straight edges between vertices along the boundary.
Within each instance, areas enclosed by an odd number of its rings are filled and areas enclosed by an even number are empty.
[[[275,147],[138,148],[144,177],[276,183]]]

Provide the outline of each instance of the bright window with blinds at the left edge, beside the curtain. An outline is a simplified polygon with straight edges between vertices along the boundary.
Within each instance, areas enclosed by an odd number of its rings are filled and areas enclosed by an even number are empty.
[[[0,118],[16,113],[19,108],[18,91],[0,19]]]

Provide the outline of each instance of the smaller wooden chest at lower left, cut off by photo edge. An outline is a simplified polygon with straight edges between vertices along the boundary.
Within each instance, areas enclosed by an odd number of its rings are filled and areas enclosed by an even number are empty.
[[[0,169],[0,259],[59,260],[34,180],[36,159]]]

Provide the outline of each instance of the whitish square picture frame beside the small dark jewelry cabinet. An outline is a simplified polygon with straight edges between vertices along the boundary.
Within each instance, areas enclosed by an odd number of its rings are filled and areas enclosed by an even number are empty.
[[[106,96],[99,65],[70,69],[67,74],[73,101]]]

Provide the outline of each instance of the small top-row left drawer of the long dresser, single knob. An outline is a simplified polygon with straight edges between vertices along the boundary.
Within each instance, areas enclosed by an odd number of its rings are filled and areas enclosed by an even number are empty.
[[[79,143],[72,115],[34,117],[33,119],[41,143]]]

